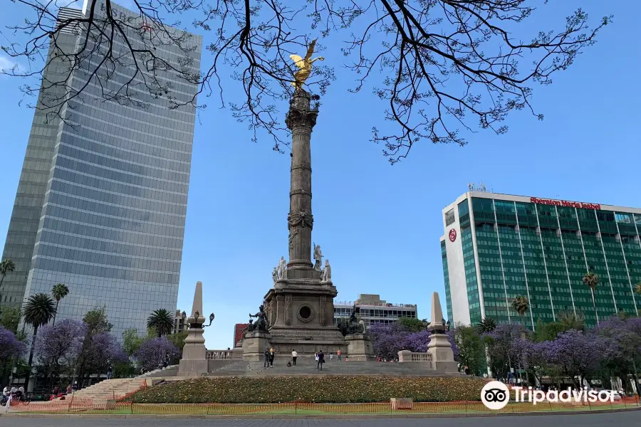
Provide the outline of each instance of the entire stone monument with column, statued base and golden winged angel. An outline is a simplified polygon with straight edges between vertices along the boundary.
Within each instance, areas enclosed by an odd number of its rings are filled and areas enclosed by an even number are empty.
[[[372,360],[372,344],[360,330],[343,333],[334,325],[334,297],[338,294],[332,282],[331,266],[323,265],[320,246],[312,247],[312,187],[311,187],[311,132],[316,125],[318,105],[312,105],[312,96],[303,89],[311,74],[316,46],[312,41],[305,58],[292,55],[298,73],[294,75],[295,90],[286,116],[291,130],[291,188],[289,191],[289,260],[281,257],[273,270],[273,288],[264,297],[264,306],[252,317],[259,320],[246,332],[243,340],[245,360],[259,360],[266,347],[276,353],[302,354],[319,350],[349,354],[350,359]],[[312,251],[314,263],[312,263]],[[261,314],[262,313],[262,314]],[[348,332],[361,332],[347,334]]]

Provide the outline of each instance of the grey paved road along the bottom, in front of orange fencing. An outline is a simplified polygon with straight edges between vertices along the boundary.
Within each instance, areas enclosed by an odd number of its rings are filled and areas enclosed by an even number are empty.
[[[0,427],[638,427],[641,411],[590,413],[585,415],[501,416],[485,418],[395,418],[395,419],[99,419],[99,418],[9,418],[0,416]]]

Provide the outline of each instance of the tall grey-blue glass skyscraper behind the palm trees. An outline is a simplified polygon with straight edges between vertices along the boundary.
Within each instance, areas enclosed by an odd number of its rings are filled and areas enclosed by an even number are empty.
[[[115,16],[130,24],[134,48],[142,48],[145,42],[132,25],[140,19],[112,6]],[[104,14],[104,6],[97,13]],[[81,14],[63,8],[58,19]],[[71,49],[82,34],[81,28],[70,28],[58,36],[58,46]],[[187,64],[197,75],[202,38],[188,36],[192,49],[162,44],[155,54],[176,68]],[[115,49],[126,51],[122,40],[115,40]],[[46,117],[46,110],[33,118],[3,253],[17,268],[6,276],[2,304],[21,305],[29,295],[65,283],[70,293],[60,303],[58,319],[82,319],[105,305],[120,337],[130,327],[144,331],[153,310],[176,309],[195,107],[170,109],[166,96],[151,96],[142,86],[140,75],[130,88],[136,102],[105,100],[104,87],[90,77],[97,67],[85,58],[73,73],[71,92],[86,88],[66,102],[66,120]],[[43,85],[65,71],[53,60]],[[101,83],[115,93],[133,73],[135,68],[117,65]],[[156,73],[171,82],[177,102],[188,102],[197,92],[197,85],[177,73]],[[41,90],[39,101],[51,95]]]

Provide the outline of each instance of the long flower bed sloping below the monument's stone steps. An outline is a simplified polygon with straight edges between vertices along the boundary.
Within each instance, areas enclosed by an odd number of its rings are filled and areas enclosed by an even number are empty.
[[[469,377],[246,376],[171,381],[127,398],[137,404],[366,403],[408,397],[416,402],[479,401],[485,380]]]

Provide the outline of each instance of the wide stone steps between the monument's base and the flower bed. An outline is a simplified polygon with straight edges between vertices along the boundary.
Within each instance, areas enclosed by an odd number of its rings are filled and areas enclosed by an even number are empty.
[[[288,367],[290,359],[276,358],[273,367],[264,368],[263,362],[237,361],[209,372],[208,376],[286,376],[286,375],[387,375],[387,376],[438,376],[422,362],[357,362],[336,359],[323,364],[323,371],[316,370],[313,357],[296,361],[296,367]]]

